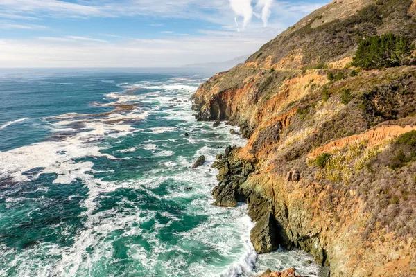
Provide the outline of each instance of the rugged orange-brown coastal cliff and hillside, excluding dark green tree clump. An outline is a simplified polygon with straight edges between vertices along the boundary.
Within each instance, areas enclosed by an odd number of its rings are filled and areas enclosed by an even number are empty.
[[[334,1],[193,96],[199,120],[249,139],[214,164],[213,195],[248,203],[259,253],[298,247],[331,276],[416,276],[416,67],[348,66],[358,37],[415,40],[415,7]]]

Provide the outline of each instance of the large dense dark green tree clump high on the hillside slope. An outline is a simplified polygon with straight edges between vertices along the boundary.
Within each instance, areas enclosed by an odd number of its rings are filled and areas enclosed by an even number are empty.
[[[353,58],[354,66],[363,69],[381,69],[400,66],[413,52],[415,46],[405,35],[374,35],[358,44],[358,50]]]

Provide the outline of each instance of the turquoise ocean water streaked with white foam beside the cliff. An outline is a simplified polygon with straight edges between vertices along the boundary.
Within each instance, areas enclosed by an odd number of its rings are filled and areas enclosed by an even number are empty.
[[[257,257],[245,205],[210,205],[209,165],[245,141],[193,118],[207,77],[0,71],[0,276],[315,276],[300,251]]]

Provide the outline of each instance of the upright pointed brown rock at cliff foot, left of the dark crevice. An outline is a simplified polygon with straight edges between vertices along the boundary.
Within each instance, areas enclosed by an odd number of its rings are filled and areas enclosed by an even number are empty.
[[[250,232],[250,239],[257,253],[270,253],[279,249],[278,230],[275,218],[269,211],[263,215]]]

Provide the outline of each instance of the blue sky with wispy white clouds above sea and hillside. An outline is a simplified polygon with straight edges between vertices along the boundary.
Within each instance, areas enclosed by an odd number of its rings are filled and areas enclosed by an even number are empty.
[[[0,0],[0,67],[225,62],[329,1]]]

